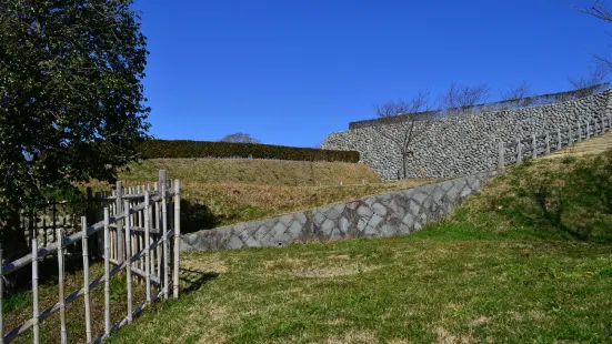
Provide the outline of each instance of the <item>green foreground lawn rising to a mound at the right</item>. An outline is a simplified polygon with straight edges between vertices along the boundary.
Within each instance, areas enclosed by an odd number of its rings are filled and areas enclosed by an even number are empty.
[[[513,169],[409,236],[184,255],[191,291],[110,342],[609,343],[612,214],[585,193],[555,215],[582,163]],[[576,235],[584,204],[605,221]]]

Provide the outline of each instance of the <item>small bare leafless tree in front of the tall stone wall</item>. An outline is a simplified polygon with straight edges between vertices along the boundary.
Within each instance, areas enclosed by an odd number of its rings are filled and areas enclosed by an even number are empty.
[[[419,91],[414,98],[399,99],[374,105],[374,113],[381,119],[391,119],[392,127],[375,125],[374,130],[393,143],[402,156],[402,175],[408,178],[408,159],[414,155],[412,144],[428,134],[437,112],[429,111],[429,91]]]

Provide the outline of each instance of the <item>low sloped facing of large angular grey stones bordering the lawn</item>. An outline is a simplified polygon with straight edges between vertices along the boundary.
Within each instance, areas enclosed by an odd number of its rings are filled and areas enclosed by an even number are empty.
[[[181,252],[283,246],[293,242],[405,235],[439,220],[496,172],[320,206],[182,236]]]

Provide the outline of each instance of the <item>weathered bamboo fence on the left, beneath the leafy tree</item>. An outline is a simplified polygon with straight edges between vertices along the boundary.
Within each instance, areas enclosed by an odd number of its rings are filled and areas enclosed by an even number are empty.
[[[40,324],[51,314],[60,313],[61,343],[70,342],[67,338],[66,306],[78,297],[83,296],[86,314],[87,343],[100,343],[111,332],[132,322],[147,306],[160,297],[164,300],[172,292],[179,297],[179,266],[180,266],[180,200],[181,189],[179,180],[165,181],[165,171],[160,171],[159,188],[153,191],[144,188],[128,189],[123,194],[121,183],[110,194],[99,194],[101,200],[109,202],[102,209],[103,220],[88,225],[86,216],[81,217],[82,231],[70,236],[58,230],[58,241],[39,247],[38,239],[31,241],[32,253],[11,263],[2,265],[0,275],[0,343],[9,343],[24,332],[32,330],[33,343],[40,342]],[[167,190],[171,185],[172,189]],[[159,190],[158,190],[159,189]],[[168,212],[168,203],[173,202],[173,212]],[[111,204],[112,203],[112,204]],[[109,206],[112,205],[112,206]],[[169,219],[172,217],[172,219]],[[173,220],[173,221],[170,221]],[[173,223],[173,227],[169,229]],[[102,244],[104,259],[104,274],[90,280],[90,237],[103,233],[99,243]],[[100,236],[100,235],[98,235]],[[64,255],[69,245],[81,242],[83,259],[83,286],[64,295]],[[38,262],[47,255],[57,255],[59,277],[59,301],[40,312],[39,310],[39,271]],[[173,257],[172,260],[170,257]],[[2,250],[0,249],[0,262]],[[113,265],[111,269],[111,264]],[[32,270],[32,317],[21,325],[4,333],[2,314],[3,277],[19,269],[31,265]],[[110,281],[112,276],[126,270],[127,305],[126,317],[111,325],[110,313]],[[171,273],[170,273],[171,272]],[[147,289],[146,302],[134,307],[132,302],[132,280],[141,279]],[[93,338],[91,324],[90,291],[103,283],[104,285],[104,333]],[[152,294],[151,285],[155,284],[159,292]],[[172,289],[170,291],[170,287]]]

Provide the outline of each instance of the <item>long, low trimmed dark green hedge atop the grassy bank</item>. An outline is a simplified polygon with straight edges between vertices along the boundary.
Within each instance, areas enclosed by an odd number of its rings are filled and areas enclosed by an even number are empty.
[[[253,158],[294,161],[359,162],[359,152],[331,151],[260,143],[190,140],[147,140],[138,148],[143,159],[155,158]]]

